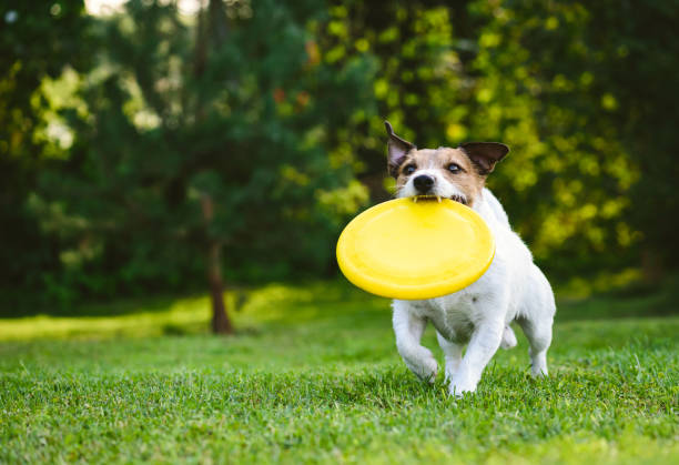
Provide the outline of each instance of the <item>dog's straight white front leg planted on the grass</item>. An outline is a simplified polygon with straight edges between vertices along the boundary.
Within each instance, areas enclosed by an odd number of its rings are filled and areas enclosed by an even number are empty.
[[[467,352],[450,380],[450,394],[462,397],[476,391],[484,368],[497,352],[505,324],[501,320],[480,322],[469,341]]]

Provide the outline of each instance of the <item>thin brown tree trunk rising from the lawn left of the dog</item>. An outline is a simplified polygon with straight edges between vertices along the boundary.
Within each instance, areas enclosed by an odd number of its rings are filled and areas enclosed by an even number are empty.
[[[207,236],[207,282],[210,283],[210,300],[212,302],[212,332],[215,334],[233,334],[231,320],[226,314],[224,302],[224,283],[222,281],[222,243],[210,237],[210,224],[214,216],[212,198],[203,194],[201,198],[205,235]]]

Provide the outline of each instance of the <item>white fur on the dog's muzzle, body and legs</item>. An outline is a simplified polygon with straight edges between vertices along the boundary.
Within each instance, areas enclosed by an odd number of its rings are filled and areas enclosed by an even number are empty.
[[[416,174],[436,179],[435,194],[463,194],[436,173],[425,168]],[[397,196],[416,194],[411,180]],[[482,373],[497,348],[516,345],[509,323],[516,321],[530,344],[534,376],[547,374],[547,348],[556,312],[554,294],[543,272],[533,263],[528,247],[511,231],[507,214],[493,193],[484,189],[474,201],[474,210],[486,221],[496,242],[493,263],[469,286],[454,294],[426,301],[393,302],[396,346],[404,362],[417,376],[433,381],[438,372],[432,352],[420,345],[427,322],[436,328],[445,355],[445,376],[450,394],[474,392]],[[450,246],[455,246],[452,241]],[[463,356],[463,347],[468,344]]]

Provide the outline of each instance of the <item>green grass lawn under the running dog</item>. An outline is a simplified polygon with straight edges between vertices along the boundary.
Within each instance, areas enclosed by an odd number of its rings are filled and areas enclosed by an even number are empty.
[[[256,290],[230,338],[204,297],[0,320],[0,463],[677,463],[679,317],[658,299],[563,301],[548,378],[519,336],[458,401],[407,372],[388,302],[344,284]]]

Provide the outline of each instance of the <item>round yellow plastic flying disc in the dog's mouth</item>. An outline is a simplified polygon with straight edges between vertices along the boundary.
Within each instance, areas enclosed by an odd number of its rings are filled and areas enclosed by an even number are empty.
[[[495,256],[485,221],[458,202],[396,199],[352,220],[337,263],[356,286],[383,297],[420,300],[459,291]]]

